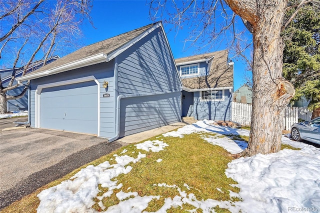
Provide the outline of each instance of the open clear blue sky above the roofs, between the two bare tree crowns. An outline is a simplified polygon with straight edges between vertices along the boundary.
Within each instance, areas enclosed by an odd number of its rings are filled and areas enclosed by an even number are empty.
[[[147,25],[151,22],[149,18],[149,1],[147,0],[95,0],[91,17],[94,29],[90,24],[85,23],[82,26],[83,42],[85,45],[104,40],[106,38],[118,35],[123,32]],[[158,18],[156,21],[160,20]],[[238,24],[242,24],[241,22]],[[220,45],[215,49],[203,48],[196,51],[192,46],[184,45],[184,39],[188,36],[188,30],[179,30],[176,33],[170,31],[170,25],[164,25],[167,32],[170,47],[175,58],[198,54],[202,52],[215,51],[224,49],[225,46]],[[229,55],[232,57],[233,55]],[[234,61],[234,90],[239,88],[244,82],[244,74],[246,65],[240,57],[233,58]]]

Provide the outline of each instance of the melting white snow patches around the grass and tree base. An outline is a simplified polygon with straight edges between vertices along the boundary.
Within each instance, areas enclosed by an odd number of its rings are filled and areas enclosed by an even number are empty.
[[[203,120],[183,126],[177,131],[164,133],[163,136],[183,137],[193,132],[213,132],[203,138],[209,143],[221,145],[231,153],[240,152],[246,144],[241,140],[232,140],[227,135],[248,135],[248,130],[235,129],[227,126],[212,125],[212,121]],[[194,194],[182,191],[176,185],[164,182],[154,183],[159,187],[171,187],[179,195],[166,197],[163,206],[157,212],[166,212],[171,206],[181,208],[183,203],[189,203],[203,212],[213,212],[213,207],[219,205],[231,212],[319,212],[320,211],[320,149],[301,142],[294,142],[282,137],[282,142],[299,147],[300,150],[284,149],[277,153],[257,154],[252,157],[241,157],[232,160],[225,174],[238,182],[239,193],[230,191],[230,196],[240,197],[241,201],[198,200]],[[136,144],[136,149],[147,151],[166,151],[165,138],[161,140],[144,141]],[[137,156],[125,154],[115,156],[115,164],[105,161],[97,166],[89,165],[81,169],[73,177],[38,194],[40,204],[38,212],[95,212],[90,208],[93,197],[98,193],[98,184],[108,187],[108,191],[97,197],[102,200],[113,193],[113,189],[122,187],[122,183],[111,180],[117,175],[126,174],[132,169],[129,162],[137,163],[143,160],[145,154],[138,152]],[[160,163],[158,159],[157,162]],[[134,166],[134,165],[133,165]],[[186,188],[190,188],[184,184]],[[116,193],[120,202],[110,206],[106,212],[141,212],[157,195],[139,196],[136,191]],[[133,197],[132,197],[133,196]],[[105,209],[102,202],[98,202]],[[195,212],[195,209],[193,211]]]

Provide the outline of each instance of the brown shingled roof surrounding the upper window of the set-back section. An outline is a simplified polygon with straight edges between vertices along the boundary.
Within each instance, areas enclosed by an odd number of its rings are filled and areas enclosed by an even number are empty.
[[[182,78],[183,86],[190,89],[233,86],[233,65],[228,64],[227,50],[177,58],[175,63],[205,59],[212,56],[214,57],[209,61],[209,74],[207,76]]]

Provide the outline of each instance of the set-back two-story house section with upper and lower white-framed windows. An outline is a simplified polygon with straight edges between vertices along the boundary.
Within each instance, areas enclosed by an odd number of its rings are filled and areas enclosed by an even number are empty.
[[[233,62],[228,51],[175,59],[182,84],[182,116],[231,120]]]

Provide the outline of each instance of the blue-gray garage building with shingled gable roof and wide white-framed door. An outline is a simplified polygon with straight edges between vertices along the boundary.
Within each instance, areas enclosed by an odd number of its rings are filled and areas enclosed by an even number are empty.
[[[161,22],[84,46],[36,71],[30,126],[109,141],[180,121],[181,80]]]

